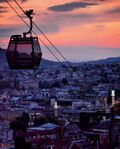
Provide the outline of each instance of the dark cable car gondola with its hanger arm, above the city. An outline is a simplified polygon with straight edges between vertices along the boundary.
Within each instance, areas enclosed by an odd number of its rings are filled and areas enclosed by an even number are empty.
[[[30,19],[30,30],[22,35],[12,35],[7,49],[7,61],[11,69],[37,69],[39,67],[42,52],[37,37],[32,36],[32,13],[26,11]],[[26,35],[30,34],[29,37]]]

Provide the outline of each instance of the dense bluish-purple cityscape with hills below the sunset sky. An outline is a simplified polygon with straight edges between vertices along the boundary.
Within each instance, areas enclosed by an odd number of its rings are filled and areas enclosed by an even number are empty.
[[[120,60],[42,60],[10,70],[0,51],[1,149],[119,149]]]

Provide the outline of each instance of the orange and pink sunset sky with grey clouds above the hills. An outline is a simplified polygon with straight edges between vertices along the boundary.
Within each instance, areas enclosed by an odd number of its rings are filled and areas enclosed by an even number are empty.
[[[14,1],[9,2],[28,21]],[[34,22],[67,60],[77,62],[120,56],[120,0],[18,2],[24,10],[34,10]],[[5,0],[0,0],[0,47],[7,47],[12,34],[22,34],[26,30],[25,24]],[[34,30],[49,46],[43,36]],[[42,44],[41,48],[43,58],[56,60]],[[61,59],[60,56],[58,58]]]

